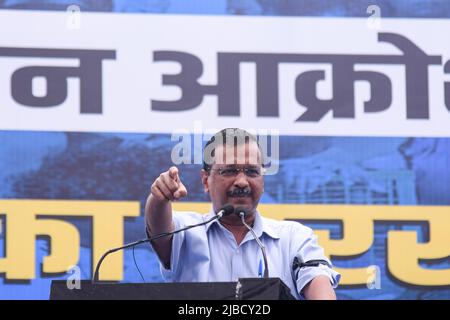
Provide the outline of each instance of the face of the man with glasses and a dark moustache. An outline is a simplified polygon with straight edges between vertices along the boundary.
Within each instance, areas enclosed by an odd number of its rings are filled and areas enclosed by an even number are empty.
[[[229,203],[254,212],[264,192],[261,153],[254,141],[217,146],[210,172],[202,170],[202,183],[215,211]]]

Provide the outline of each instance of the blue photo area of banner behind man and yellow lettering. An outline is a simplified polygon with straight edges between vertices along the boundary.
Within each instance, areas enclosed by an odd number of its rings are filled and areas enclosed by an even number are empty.
[[[176,144],[165,134],[0,132],[0,198],[139,200],[144,208],[152,181],[171,165]],[[261,203],[449,205],[450,139],[373,137],[280,137],[280,166],[265,177]],[[179,165],[180,178],[188,186],[187,201],[208,202],[200,182],[199,164]],[[87,221],[74,221],[80,231],[79,267],[84,279],[92,274]],[[307,224],[328,228],[335,225]],[[386,233],[397,225],[375,224],[369,252],[351,260],[332,260],[338,267],[377,265],[381,288],[337,290],[340,299],[433,299],[449,298],[450,290],[409,288],[389,277],[385,266]],[[414,225],[423,239],[426,230]],[[141,217],[125,222],[125,243],[145,238]],[[1,238],[0,241],[4,241]],[[422,240],[423,241],[423,240]],[[39,259],[48,254],[49,243],[39,240]],[[0,246],[2,248],[3,246]],[[3,256],[4,252],[0,252]],[[135,257],[146,282],[162,281],[157,257],[142,245]],[[132,251],[124,258],[124,282],[142,282]],[[433,267],[433,266],[431,266]],[[448,259],[434,266],[449,268]],[[0,279],[0,298],[48,298],[48,275],[37,272],[30,283],[15,285]],[[68,275],[59,278],[67,278]],[[50,279],[58,279],[51,277]],[[23,290],[27,287],[27,290]]]

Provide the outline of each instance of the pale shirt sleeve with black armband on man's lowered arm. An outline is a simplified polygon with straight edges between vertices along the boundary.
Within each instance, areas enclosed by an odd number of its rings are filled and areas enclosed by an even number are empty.
[[[317,242],[317,236],[313,233],[313,230],[309,227],[298,224],[298,226],[292,229],[292,247],[293,261],[297,259],[300,263],[305,263],[311,260],[322,260],[324,263],[319,263],[317,266],[303,266],[293,268],[293,276],[297,285],[297,292],[304,298],[303,289],[317,276],[326,276],[330,279],[330,283],[333,288],[338,286],[341,275],[334,271],[331,261],[325,256],[323,248]],[[328,264],[328,265],[327,265]]]

